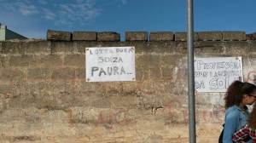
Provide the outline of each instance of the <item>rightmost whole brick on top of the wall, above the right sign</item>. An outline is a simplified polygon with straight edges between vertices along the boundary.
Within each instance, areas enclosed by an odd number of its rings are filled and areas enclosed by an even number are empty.
[[[222,32],[223,40],[246,40],[245,31],[224,31]]]

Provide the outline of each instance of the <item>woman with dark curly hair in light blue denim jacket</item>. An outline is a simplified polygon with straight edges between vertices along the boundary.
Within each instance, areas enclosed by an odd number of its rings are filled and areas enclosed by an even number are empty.
[[[256,95],[256,86],[252,83],[235,81],[228,88],[224,97],[224,143],[232,143],[233,134],[247,123],[247,105],[252,105],[256,100],[253,95]]]

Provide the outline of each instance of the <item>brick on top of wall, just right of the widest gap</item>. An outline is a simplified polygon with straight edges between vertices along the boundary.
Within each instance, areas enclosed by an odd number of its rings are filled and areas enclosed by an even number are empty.
[[[125,41],[148,41],[147,31],[126,31]]]

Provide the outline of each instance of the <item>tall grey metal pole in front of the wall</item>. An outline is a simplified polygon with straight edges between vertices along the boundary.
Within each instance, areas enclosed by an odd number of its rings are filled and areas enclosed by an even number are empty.
[[[195,143],[195,79],[194,79],[194,18],[193,0],[188,0],[188,98],[189,98],[189,143]]]

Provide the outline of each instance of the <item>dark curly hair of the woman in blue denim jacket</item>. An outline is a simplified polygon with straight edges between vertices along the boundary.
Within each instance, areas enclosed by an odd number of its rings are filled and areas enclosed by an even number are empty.
[[[224,97],[225,108],[234,105],[240,106],[243,94],[252,94],[254,90],[256,90],[256,86],[252,83],[242,83],[241,81],[231,83]]]

